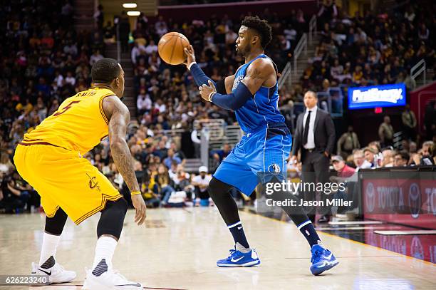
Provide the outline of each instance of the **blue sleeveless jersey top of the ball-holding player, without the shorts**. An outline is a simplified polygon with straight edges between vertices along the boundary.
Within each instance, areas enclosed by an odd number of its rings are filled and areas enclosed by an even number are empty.
[[[261,54],[252,59],[249,63],[245,63],[243,66],[239,67],[237,73],[234,75],[232,90],[237,88],[246,75],[246,69],[257,58],[268,58],[268,56]],[[249,99],[242,108],[235,111],[238,123],[242,130],[244,130],[245,133],[249,133],[267,123],[283,123],[284,116],[281,115],[277,108],[278,102],[279,86],[277,85],[277,82],[271,88],[261,86],[254,95],[254,98]]]

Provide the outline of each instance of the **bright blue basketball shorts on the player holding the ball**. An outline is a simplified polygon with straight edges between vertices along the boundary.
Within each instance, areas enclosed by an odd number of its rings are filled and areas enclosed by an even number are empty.
[[[249,196],[259,182],[269,182],[273,177],[286,180],[291,146],[286,124],[269,123],[242,137],[213,176]]]

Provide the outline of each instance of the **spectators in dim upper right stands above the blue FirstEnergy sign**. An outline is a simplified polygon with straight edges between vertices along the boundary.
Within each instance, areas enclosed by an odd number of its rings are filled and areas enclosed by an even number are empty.
[[[309,59],[301,82],[289,92],[301,100],[307,89],[323,91],[329,87],[373,86],[405,83],[416,88],[410,68],[425,59],[427,68],[436,65],[435,6],[410,1],[390,14],[360,11],[348,16],[326,1],[318,13],[321,39],[315,56]]]

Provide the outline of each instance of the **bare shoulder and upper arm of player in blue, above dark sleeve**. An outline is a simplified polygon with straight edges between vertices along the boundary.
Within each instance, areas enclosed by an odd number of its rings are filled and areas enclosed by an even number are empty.
[[[253,95],[261,86],[271,87],[276,83],[276,71],[274,65],[268,59],[258,58],[253,61],[246,70],[246,76],[242,83]]]

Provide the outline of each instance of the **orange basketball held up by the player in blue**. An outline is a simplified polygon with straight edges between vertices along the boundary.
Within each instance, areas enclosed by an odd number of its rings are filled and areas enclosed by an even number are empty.
[[[160,38],[157,51],[165,63],[177,65],[185,61],[183,48],[187,46],[190,46],[190,41],[182,33],[168,32]]]

